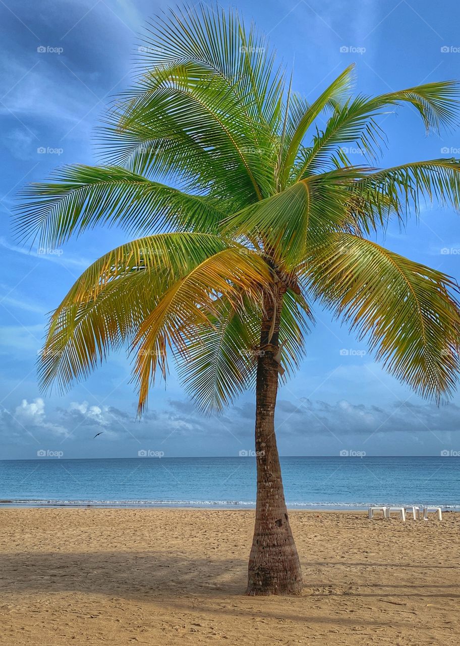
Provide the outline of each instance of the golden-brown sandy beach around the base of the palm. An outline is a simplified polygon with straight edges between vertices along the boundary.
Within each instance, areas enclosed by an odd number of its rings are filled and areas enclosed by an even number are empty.
[[[0,509],[0,643],[460,644],[460,514],[291,512],[304,592],[251,598],[253,514]]]

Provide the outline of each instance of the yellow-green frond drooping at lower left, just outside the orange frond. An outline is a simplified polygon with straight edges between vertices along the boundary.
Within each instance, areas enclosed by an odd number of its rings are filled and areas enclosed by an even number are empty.
[[[240,247],[229,247],[209,234],[158,234],[121,245],[99,258],[52,315],[41,353],[43,386],[56,380],[65,389],[72,380],[87,377],[110,349],[131,346],[165,294],[207,260],[220,258],[223,251],[229,252],[233,265],[236,256],[248,275],[252,271],[254,276],[254,263],[260,259],[245,259]],[[262,262],[258,266],[262,276]],[[159,355],[159,360],[164,369],[165,355]]]

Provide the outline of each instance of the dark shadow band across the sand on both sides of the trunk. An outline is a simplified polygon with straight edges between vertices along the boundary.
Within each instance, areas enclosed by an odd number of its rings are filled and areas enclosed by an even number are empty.
[[[459,585],[432,582],[368,583],[355,579],[341,586],[329,572],[329,582],[309,576],[311,567],[344,563],[303,563],[303,596],[449,597],[460,598]],[[401,563],[347,563],[348,567],[415,567]],[[426,570],[427,566],[419,566]],[[3,592],[90,592],[127,599],[150,596],[200,596],[213,598],[244,593],[247,562],[242,559],[189,558],[164,552],[21,552],[2,556]],[[419,590],[423,588],[423,592]]]

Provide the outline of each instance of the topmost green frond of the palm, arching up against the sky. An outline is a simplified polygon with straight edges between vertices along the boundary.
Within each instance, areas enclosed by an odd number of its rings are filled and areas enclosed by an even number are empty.
[[[141,70],[197,63],[220,76],[251,118],[276,129],[284,74],[266,36],[249,30],[235,9],[198,5],[170,11],[143,37]]]

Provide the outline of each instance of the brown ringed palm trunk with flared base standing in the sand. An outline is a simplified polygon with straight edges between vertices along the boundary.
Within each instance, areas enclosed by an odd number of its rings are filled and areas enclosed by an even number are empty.
[[[247,594],[298,594],[302,570],[289,525],[275,437],[278,330],[283,291],[266,299],[256,376],[257,499]],[[274,325],[273,325],[274,323]],[[270,338],[271,335],[271,338]]]

